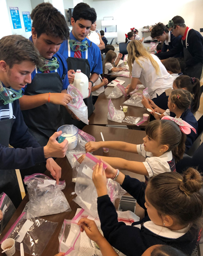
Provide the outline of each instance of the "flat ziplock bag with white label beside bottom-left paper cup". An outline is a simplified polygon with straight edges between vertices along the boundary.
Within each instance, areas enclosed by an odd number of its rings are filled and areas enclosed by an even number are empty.
[[[58,222],[51,222],[42,218],[33,218],[28,213],[22,214],[15,221],[1,243],[7,238],[13,238],[17,250],[20,250],[20,243],[23,243],[24,252],[40,256],[47,246]]]

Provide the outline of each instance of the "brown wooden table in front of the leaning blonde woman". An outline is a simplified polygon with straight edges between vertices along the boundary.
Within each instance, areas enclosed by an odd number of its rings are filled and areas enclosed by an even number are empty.
[[[126,87],[129,83],[130,83],[130,78],[127,77],[117,77],[116,79],[120,79],[125,81],[125,83],[123,84],[124,87]],[[94,125],[127,125],[128,127],[132,128],[132,129],[140,129],[140,128],[144,128],[148,122],[148,121],[142,123],[140,126],[137,125],[132,125],[129,124],[127,122],[114,122],[111,120],[108,120],[107,115],[109,112],[108,109],[108,103],[109,103],[109,99],[107,99],[108,95],[111,93],[111,91],[113,90],[114,87],[107,87],[105,89],[105,91],[103,93],[101,93],[98,96],[98,99],[95,103],[95,110],[93,111],[93,113],[90,115],[89,117],[89,124],[94,124]],[[114,104],[116,109],[120,109],[120,106],[124,106],[124,102],[126,100],[128,100],[129,97],[124,97],[124,95],[118,99],[111,99],[112,103]],[[143,114],[150,114],[146,108],[140,108],[140,107],[134,107],[134,106],[128,106],[128,110],[127,113],[125,113],[125,116],[136,116],[136,117],[143,117]]]

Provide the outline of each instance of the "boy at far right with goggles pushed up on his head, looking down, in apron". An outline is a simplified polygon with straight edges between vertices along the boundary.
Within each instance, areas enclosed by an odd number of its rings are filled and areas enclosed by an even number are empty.
[[[184,75],[200,80],[203,75],[203,37],[198,31],[187,27],[181,16],[175,16],[168,22],[168,26],[173,27],[175,37],[182,36],[180,47],[183,48],[186,62]]]

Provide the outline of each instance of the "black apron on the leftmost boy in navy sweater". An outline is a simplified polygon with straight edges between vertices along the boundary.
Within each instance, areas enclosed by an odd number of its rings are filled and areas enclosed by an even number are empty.
[[[14,123],[13,108],[11,103],[10,113],[12,118],[0,121],[0,143],[6,147],[9,146],[12,125]],[[17,208],[22,201],[22,197],[15,169],[0,170],[0,177],[0,194],[2,192],[6,193],[13,202],[14,206]]]

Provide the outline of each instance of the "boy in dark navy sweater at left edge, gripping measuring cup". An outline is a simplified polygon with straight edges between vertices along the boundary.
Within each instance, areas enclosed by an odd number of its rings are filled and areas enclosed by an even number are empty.
[[[15,207],[22,200],[15,169],[46,162],[58,182],[61,168],[49,157],[63,157],[67,149],[67,142],[56,141],[60,133],[41,147],[28,132],[20,111],[21,89],[31,82],[31,73],[41,62],[39,52],[26,38],[12,35],[0,40],[0,193],[5,192]]]

